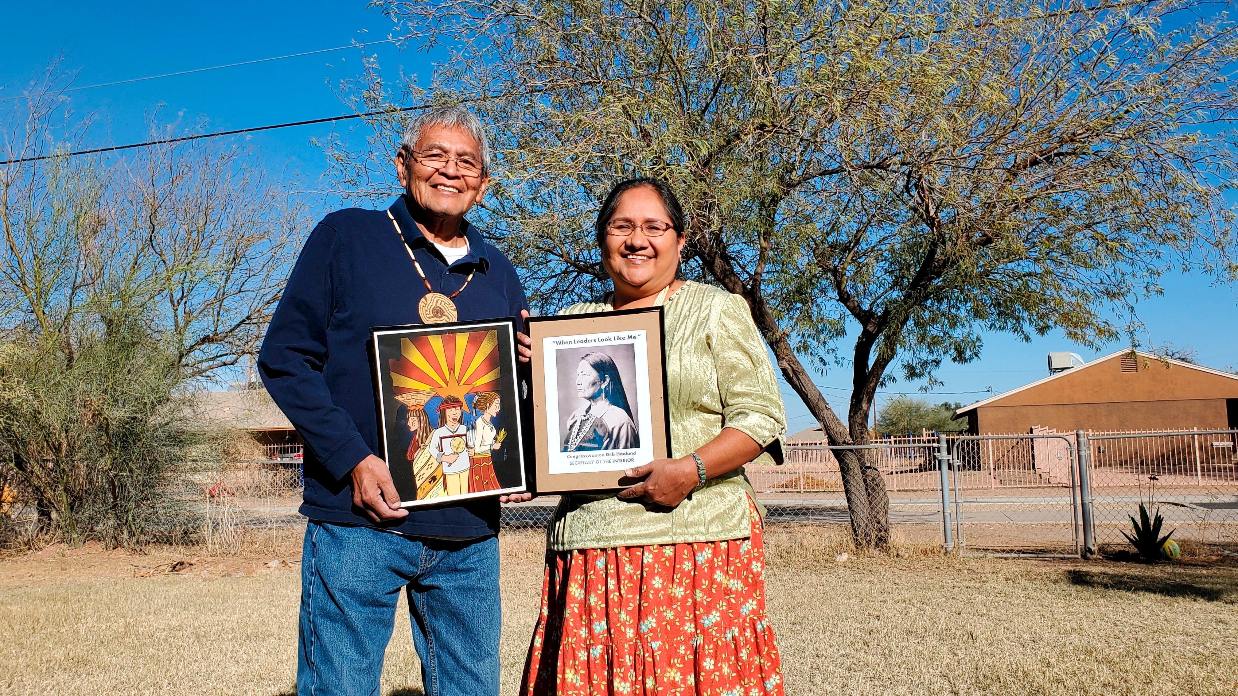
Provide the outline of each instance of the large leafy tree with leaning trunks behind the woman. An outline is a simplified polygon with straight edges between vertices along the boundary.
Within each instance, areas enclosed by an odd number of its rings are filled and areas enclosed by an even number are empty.
[[[467,102],[491,124],[479,222],[543,311],[604,287],[605,191],[662,177],[687,272],[748,301],[833,445],[868,441],[880,385],[935,384],[983,332],[1096,346],[1165,270],[1236,274],[1234,27],[1207,2],[373,4],[449,57],[427,93],[370,62],[355,108]],[[342,191],[391,191],[405,118],[329,144]],[[849,372],[846,414],[812,365]],[[885,544],[881,473],[839,463],[857,544]]]

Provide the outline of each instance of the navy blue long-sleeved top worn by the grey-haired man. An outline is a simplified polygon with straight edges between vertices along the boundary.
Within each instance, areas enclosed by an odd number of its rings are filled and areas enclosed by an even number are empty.
[[[314,228],[275,311],[258,365],[266,390],[306,442],[305,503],[310,519],[378,526],[353,507],[349,472],[381,456],[366,341],[370,328],[421,323],[417,301],[426,286],[402,244],[417,256],[430,285],[456,292],[459,321],[517,317],[529,308],[516,270],[501,251],[464,223],[469,254],[447,260],[421,234],[405,198],[391,204],[404,241],[384,211],[349,208]],[[477,539],[498,531],[494,498],[457,505],[411,508],[402,534]]]

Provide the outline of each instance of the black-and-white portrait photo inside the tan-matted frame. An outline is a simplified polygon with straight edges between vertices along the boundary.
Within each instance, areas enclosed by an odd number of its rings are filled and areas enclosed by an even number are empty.
[[[556,352],[561,452],[640,447],[635,347],[612,343]]]

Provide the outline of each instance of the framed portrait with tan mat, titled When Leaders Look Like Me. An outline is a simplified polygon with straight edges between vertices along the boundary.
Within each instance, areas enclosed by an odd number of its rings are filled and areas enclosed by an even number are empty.
[[[626,488],[670,456],[662,333],[661,307],[529,320],[539,493]]]

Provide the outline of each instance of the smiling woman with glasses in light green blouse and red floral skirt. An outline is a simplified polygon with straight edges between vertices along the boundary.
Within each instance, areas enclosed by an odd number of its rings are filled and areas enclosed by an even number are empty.
[[[686,229],[666,183],[619,183],[595,224],[614,291],[565,310],[664,307],[671,458],[560,502],[526,696],[782,694],[743,466],[780,463],[786,417],[744,300],[680,277]]]

